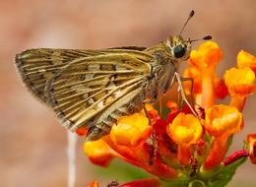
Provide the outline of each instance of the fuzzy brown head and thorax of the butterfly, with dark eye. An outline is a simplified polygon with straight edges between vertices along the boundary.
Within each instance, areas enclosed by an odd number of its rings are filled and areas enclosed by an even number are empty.
[[[147,49],[147,52],[155,56],[155,60],[151,62],[153,80],[147,88],[147,97],[157,99],[160,94],[166,93],[179,63],[188,59],[190,48],[189,39],[170,36],[165,42]]]

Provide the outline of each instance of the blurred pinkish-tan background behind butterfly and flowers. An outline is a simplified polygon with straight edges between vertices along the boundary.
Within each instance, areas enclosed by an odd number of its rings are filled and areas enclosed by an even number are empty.
[[[213,35],[224,50],[220,75],[235,65],[240,49],[256,54],[254,0],[0,0],[0,186],[67,186],[66,131],[23,87],[13,63],[16,53],[36,47],[151,46],[178,33],[191,9],[196,15],[183,35]],[[256,132],[255,104],[252,95],[244,111],[245,128],[229,153],[242,148],[246,134]],[[125,180],[117,175],[122,170],[118,162],[116,172],[108,174],[93,165],[82,143],[81,138],[78,187],[94,179]],[[255,165],[247,161],[228,186],[256,186],[255,176]]]

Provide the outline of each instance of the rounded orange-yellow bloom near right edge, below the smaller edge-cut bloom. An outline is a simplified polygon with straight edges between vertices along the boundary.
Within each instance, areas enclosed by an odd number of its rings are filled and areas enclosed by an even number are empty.
[[[224,83],[231,95],[247,96],[254,90],[255,74],[250,68],[231,68],[224,73]]]

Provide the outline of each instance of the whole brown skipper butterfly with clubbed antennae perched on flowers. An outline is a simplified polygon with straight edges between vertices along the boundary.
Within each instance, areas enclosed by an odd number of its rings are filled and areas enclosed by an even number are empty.
[[[86,126],[87,141],[107,135],[117,119],[154,103],[175,81],[178,64],[188,59],[191,43],[181,33],[152,47],[102,50],[29,49],[16,55],[16,66],[35,97],[51,107],[63,127]],[[211,39],[206,36],[203,39]]]

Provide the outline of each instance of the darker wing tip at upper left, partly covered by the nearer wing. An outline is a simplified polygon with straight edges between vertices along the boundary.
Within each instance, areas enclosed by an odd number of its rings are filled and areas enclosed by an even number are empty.
[[[46,102],[44,95],[46,81],[72,60],[93,56],[98,52],[76,49],[30,49],[16,55],[20,75],[32,94]]]

